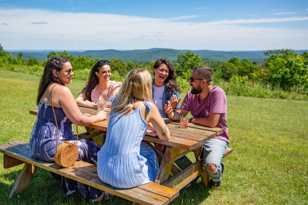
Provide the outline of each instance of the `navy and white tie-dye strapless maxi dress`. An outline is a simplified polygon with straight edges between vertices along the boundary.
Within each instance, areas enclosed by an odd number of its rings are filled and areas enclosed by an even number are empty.
[[[73,124],[71,120],[67,118],[62,108],[54,107],[54,109],[59,129],[58,146],[65,140],[76,143],[77,137],[74,136]],[[35,121],[31,132],[30,150],[35,158],[54,162],[57,127],[51,105],[39,102],[37,118],[38,119]],[[78,138],[77,146],[79,149],[79,156],[77,160],[82,160],[96,165],[96,153],[100,150],[100,146],[83,138]],[[78,192],[83,199],[96,199],[103,193],[103,191],[99,189],[90,187],[75,180],[52,172],[50,172],[50,174],[54,179],[62,180],[61,188],[64,196],[75,192],[76,189],[78,189]]]

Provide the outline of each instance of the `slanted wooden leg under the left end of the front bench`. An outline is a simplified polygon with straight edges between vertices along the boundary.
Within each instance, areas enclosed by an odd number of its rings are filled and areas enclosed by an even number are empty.
[[[23,167],[20,175],[18,176],[14,184],[12,191],[9,194],[9,197],[8,197],[9,199],[12,198],[15,192],[19,193],[25,190],[29,186],[30,181],[37,168],[38,167],[34,166],[33,164],[29,164],[29,163],[25,164],[25,166]]]

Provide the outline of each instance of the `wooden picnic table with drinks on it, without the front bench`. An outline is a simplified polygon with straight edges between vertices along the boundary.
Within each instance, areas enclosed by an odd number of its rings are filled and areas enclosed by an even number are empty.
[[[97,110],[92,108],[79,107],[80,111],[95,115]],[[110,109],[109,109],[110,111]],[[36,115],[38,110],[30,110],[30,114]],[[107,110],[108,112],[108,110]],[[179,121],[173,121],[168,118],[163,118],[168,129],[170,130],[170,140],[161,140],[158,137],[144,136],[143,140],[147,142],[155,151],[156,156],[160,162],[160,168],[156,175],[155,183],[164,185],[166,187],[180,190],[185,187],[189,182],[201,175],[203,186],[207,187],[209,178],[203,171],[203,152],[202,148],[206,141],[212,139],[218,134],[223,132],[222,128],[209,128],[193,123],[188,123],[188,128],[176,128],[180,125]],[[80,137],[89,139],[96,136],[103,131],[107,131],[109,115],[106,120],[99,121],[88,125],[86,128],[87,133],[83,133]],[[94,128],[95,133],[90,133],[89,128]],[[164,154],[156,149],[152,143],[159,143],[166,145]],[[194,152],[196,162],[188,166],[184,170],[180,170],[173,163],[180,157]],[[226,151],[227,152],[227,151]],[[231,151],[232,152],[232,151]],[[170,172],[174,175],[168,180]]]

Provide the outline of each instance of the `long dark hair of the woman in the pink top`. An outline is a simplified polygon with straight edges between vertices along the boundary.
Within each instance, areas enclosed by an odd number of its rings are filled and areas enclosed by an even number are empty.
[[[104,61],[103,63],[100,63],[99,61],[97,61],[97,63],[95,63],[95,65],[92,67],[91,73],[89,75],[89,83],[82,90],[82,93],[83,93],[83,91],[85,91],[84,95],[86,96],[86,99],[88,99],[88,101],[90,101],[90,102],[92,102],[91,92],[95,88],[95,86],[99,83],[99,79],[97,78],[97,75],[95,74],[95,72],[99,72],[99,69],[103,65],[109,65],[110,66],[110,63],[107,62],[107,61]]]

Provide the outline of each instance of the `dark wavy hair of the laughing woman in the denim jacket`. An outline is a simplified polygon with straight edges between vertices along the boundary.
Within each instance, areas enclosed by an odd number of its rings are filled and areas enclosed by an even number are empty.
[[[175,68],[173,67],[172,63],[167,58],[160,58],[155,61],[153,69],[157,69],[161,64],[167,65],[169,69],[168,77],[165,80],[165,89],[166,93],[171,93],[171,90],[177,90],[181,93],[180,86],[176,82],[177,75],[175,74]]]

